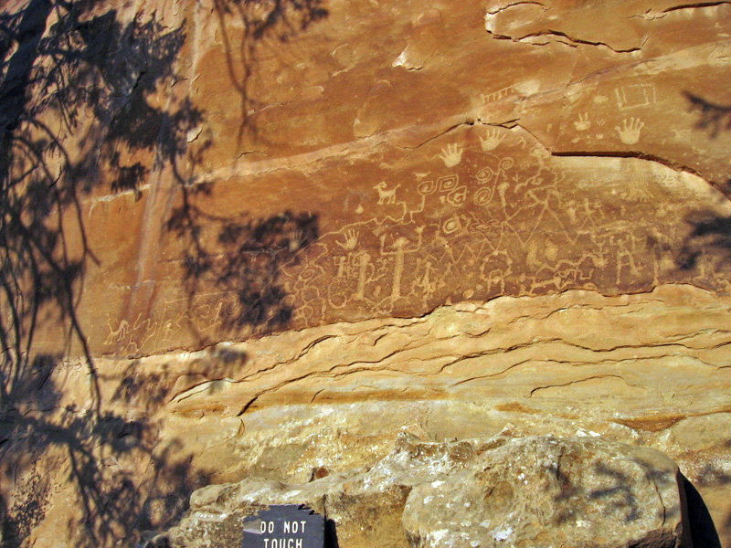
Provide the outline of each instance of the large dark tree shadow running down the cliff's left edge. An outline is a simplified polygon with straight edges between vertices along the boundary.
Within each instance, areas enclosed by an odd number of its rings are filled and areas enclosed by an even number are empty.
[[[17,11],[0,13],[2,543],[24,543],[44,519],[58,461],[69,476],[57,483],[75,490],[79,503],[59,537],[111,545],[145,520],[175,520],[180,501],[207,478],[173,448],[157,447],[147,419],[103,408],[77,315],[87,265],[99,262],[81,200],[101,184],[138,192],[160,163],[182,180],[176,161],[203,114],[189,101],[159,107],[152,97],[175,79],[182,26],[165,27],[154,16],[122,22],[102,0],[29,0],[3,9]],[[154,160],[143,163],[139,153]],[[36,350],[42,321],[59,326],[58,354]],[[61,405],[64,388],[53,380],[72,345],[90,379],[85,408]],[[116,396],[129,400],[140,390],[135,382],[122,383]],[[124,458],[150,463],[147,499],[141,478],[119,464]]]

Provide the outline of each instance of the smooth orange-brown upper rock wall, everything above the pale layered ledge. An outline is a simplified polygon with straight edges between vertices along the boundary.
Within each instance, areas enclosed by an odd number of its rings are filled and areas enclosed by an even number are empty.
[[[726,4],[285,2],[260,31],[265,8],[233,0],[107,4],[90,13],[160,26],[138,58],[93,59],[129,85],[63,134],[69,163],[101,151],[65,213],[92,353],[465,298],[728,290]],[[47,313],[55,352],[69,318]]]

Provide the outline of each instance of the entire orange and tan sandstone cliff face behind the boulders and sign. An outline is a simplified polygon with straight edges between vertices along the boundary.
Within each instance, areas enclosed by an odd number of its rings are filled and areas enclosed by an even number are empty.
[[[409,431],[658,448],[731,546],[731,5],[2,14],[4,540]]]

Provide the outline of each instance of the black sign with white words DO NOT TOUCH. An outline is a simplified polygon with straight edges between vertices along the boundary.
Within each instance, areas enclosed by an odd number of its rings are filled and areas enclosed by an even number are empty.
[[[244,520],[242,548],[323,548],[324,518],[297,504],[278,504]]]

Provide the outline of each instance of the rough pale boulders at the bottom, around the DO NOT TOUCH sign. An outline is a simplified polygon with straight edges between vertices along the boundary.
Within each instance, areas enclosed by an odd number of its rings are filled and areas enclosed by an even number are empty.
[[[406,434],[367,471],[197,490],[168,539],[191,548],[224,535],[237,543],[241,516],[304,503],[334,521],[343,548],[691,546],[682,493],[677,466],[652,449],[591,437],[436,444]]]

